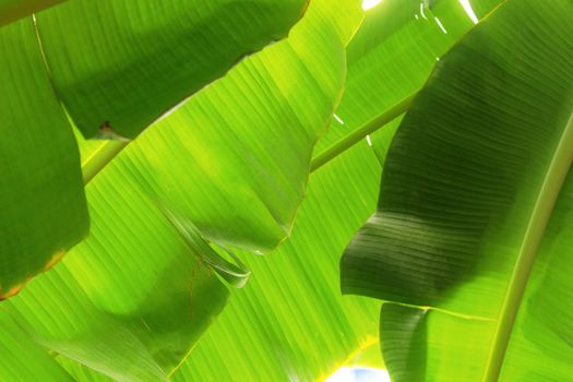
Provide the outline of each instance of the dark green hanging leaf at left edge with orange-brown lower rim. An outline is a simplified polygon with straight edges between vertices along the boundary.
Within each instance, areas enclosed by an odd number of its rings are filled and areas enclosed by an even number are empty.
[[[77,145],[29,19],[0,27],[0,118],[2,300],[53,265],[88,228]]]

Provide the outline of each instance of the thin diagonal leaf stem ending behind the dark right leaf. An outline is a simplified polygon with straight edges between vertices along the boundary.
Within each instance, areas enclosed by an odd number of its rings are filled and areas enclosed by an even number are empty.
[[[406,112],[417,93],[418,92],[416,91],[415,93],[410,94],[396,105],[392,106],[390,109],[384,110],[384,112],[381,115],[372,118],[370,121],[353,131],[348,135],[345,135],[329,148],[317,155],[310,164],[310,172],[314,172],[330,160],[334,159],[341,153],[360,142],[368,134],[373,133],[383,126],[392,122],[395,118],[402,116],[404,112]]]

